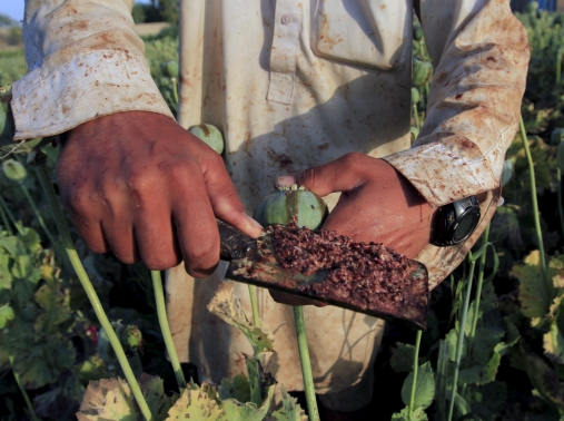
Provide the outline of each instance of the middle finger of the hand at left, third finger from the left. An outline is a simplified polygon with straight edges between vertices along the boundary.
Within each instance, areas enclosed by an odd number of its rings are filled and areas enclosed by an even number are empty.
[[[136,216],[135,239],[140,260],[150,271],[165,271],[181,262],[172,228],[172,217],[165,200],[152,202],[152,208]]]

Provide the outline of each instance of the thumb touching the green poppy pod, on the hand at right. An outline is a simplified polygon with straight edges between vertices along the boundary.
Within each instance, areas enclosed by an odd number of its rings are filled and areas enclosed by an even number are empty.
[[[319,196],[327,196],[335,192],[349,192],[365,183],[359,167],[366,158],[375,160],[366,155],[350,153],[330,163],[307,168],[294,176],[279,177],[277,184],[290,187],[293,184],[304,186]]]

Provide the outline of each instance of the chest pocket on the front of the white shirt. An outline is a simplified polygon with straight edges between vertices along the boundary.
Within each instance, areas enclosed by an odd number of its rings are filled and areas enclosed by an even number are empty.
[[[400,67],[410,48],[409,0],[317,0],[311,49],[318,57],[363,67]]]

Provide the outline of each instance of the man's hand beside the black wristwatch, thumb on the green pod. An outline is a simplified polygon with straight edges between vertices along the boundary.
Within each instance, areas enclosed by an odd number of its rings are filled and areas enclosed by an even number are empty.
[[[415,257],[429,243],[433,209],[413,185],[383,159],[352,153],[296,176],[278,179],[326,196],[342,192],[324,229],[357,242],[385,246]],[[299,305],[289,294],[270,292],[275,301]]]

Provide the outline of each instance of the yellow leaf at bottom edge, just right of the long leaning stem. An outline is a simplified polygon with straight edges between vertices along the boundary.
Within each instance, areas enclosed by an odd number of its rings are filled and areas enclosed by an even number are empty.
[[[175,420],[198,420],[215,421],[218,420],[222,411],[218,403],[209,398],[200,389],[185,389],[174,407],[168,411],[166,421]],[[80,420],[79,420],[80,421]]]

